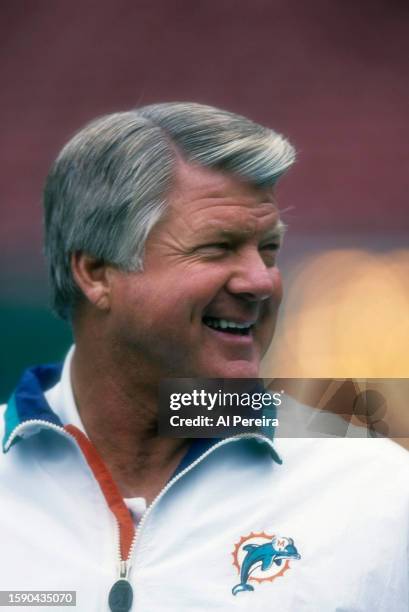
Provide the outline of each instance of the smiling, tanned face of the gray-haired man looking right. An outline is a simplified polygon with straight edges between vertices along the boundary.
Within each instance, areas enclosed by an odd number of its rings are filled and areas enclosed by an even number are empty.
[[[160,377],[255,377],[282,287],[271,190],[181,164],[144,271],[118,273],[110,333],[130,363]]]

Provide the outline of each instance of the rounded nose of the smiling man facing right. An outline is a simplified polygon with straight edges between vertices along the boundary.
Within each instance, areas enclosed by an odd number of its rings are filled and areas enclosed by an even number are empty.
[[[276,266],[266,266],[257,249],[243,253],[232,272],[227,290],[251,302],[281,295],[281,278]]]

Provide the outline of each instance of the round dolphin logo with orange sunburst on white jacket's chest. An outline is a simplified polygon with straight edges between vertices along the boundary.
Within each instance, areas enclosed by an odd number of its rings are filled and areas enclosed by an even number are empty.
[[[254,591],[248,582],[272,582],[290,569],[290,559],[301,559],[292,538],[267,533],[250,533],[234,547],[233,565],[240,575],[240,583],[233,587],[233,595]]]

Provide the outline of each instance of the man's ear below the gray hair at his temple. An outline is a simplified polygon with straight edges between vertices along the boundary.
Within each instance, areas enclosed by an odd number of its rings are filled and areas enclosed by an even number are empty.
[[[71,255],[71,270],[87,300],[99,310],[109,310],[111,287],[107,264],[102,259],[77,251]]]

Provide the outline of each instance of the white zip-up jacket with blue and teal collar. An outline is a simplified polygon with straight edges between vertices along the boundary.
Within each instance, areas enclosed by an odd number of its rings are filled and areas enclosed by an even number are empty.
[[[26,374],[5,411],[0,590],[76,591],[77,610],[105,612],[118,527],[63,428],[82,427],[68,369]],[[132,610],[407,612],[408,543],[409,455],[393,442],[230,438],[145,513]]]

